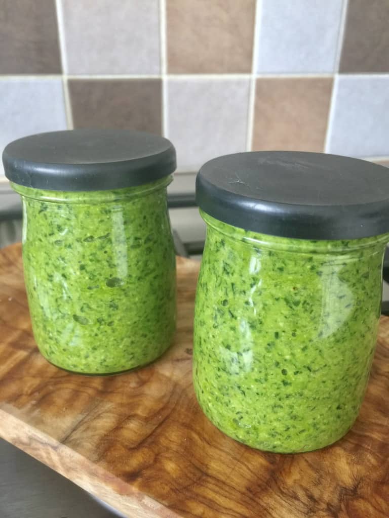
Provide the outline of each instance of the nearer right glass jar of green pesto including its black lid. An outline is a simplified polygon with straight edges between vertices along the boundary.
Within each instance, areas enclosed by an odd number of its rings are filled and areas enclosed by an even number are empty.
[[[346,434],[376,346],[389,173],[320,153],[253,152],[197,177],[207,224],[193,376],[207,417],[260,450]]]

